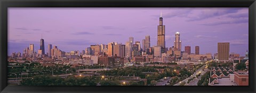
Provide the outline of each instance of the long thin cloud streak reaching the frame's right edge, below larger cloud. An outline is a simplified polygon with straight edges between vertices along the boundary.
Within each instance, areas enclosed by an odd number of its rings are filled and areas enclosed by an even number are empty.
[[[216,22],[211,22],[211,23],[204,23],[201,25],[217,26],[217,25],[221,25],[221,24],[238,24],[238,23],[249,23],[249,19],[241,18],[241,19],[222,20],[222,21],[216,21]]]

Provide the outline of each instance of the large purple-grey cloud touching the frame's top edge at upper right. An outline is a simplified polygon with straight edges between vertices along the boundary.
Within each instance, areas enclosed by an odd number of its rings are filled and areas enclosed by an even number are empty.
[[[189,20],[187,21],[201,21],[204,19],[209,19],[221,15],[226,15],[230,13],[237,13],[238,10],[235,8],[228,8],[228,9],[204,9],[200,11],[199,13],[195,14],[194,16],[191,16]]]

